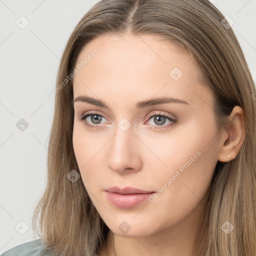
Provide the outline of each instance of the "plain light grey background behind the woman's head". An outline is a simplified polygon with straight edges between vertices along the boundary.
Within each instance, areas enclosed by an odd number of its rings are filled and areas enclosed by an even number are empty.
[[[55,87],[72,29],[97,1],[0,0],[0,254],[38,238],[31,217],[45,187],[54,110],[54,97],[48,100],[46,94]],[[212,2],[234,21],[232,28],[255,80],[256,0]],[[21,15],[29,21],[24,29],[15,23],[21,22]],[[23,131],[16,127],[21,118],[29,124]]]

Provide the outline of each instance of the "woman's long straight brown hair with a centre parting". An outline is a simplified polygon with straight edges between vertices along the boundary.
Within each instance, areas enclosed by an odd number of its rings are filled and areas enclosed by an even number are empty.
[[[104,246],[108,227],[81,178],[76,182],[67,178],[79,168],[72,147],[72,79],[63,81],[73,72],[86,43],[99,35],[127,32],[160,35],[191,54],[214,93],[219,130],[227,127],[235,105],[243,108],[243,144],[233,160],[216,164],[193,255],[256,255],[255,87],[232,28],[222,20],[224,16],[208,0],[102,0],[80,19],[65,46],[52,93],[55,110],[47,184],[33,215],[33,230],[39,234],[38,220],[43,243],[52,255],[91,256]],[[229,234],[221,229],[226,221],[234,226]]]

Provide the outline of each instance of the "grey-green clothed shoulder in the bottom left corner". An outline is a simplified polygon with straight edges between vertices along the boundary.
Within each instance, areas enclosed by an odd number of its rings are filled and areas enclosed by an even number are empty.
[[[0,256],[44,256],[46,255],[42,248],[42,238],[19,244]]]

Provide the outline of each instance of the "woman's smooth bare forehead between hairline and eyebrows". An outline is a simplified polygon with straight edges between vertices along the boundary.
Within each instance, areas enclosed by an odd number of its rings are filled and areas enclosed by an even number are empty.
[[[73,78],[74,96],[93,95],[93,91],[99,98],[111,95],[120,98],[120,102],[122,95],[130,95],[130,100],[134,100],[156,94],[190,102],[203,101],[205,97],[211,101],[212,95],[201,84],[200,71],[192,56],[158,36],[99,36],[82,48],[76,65],[79,63],[83,65]]]

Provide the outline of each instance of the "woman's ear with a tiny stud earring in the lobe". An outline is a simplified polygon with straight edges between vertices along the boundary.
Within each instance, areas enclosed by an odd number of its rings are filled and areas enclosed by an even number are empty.
[[[218,160],[221,162],[226,162],[236,157],[245,137],[244,111],[240,106],[234,106],[229,115],[229,120],[231,125],[221,138],[222,146],[218,155]]]

